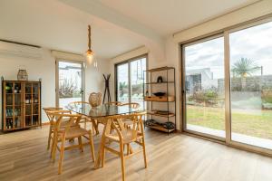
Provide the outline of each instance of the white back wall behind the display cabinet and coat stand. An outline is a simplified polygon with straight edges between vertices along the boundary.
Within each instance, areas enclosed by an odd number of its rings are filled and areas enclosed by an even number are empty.
[[[18,48],[18,46],[15,45],[15,48]],[[29,81],[38,81],[39,79],[42,79],[42,108],[53,107],[55,106],[55,58],[53,57],[52,52],[45,48],[41,50],[41,55],[40,59],[33,59],[0,52],[0,77],[3,76],[5,80],[17,80],[18,70],[20,68],[26,69]],[[98,68],[89,65],[85,69],[86,100],[88,100],[89,94],[92,91],[103,91],[104,81],[102,73],[109,72],[109,62],[106,60],[97,60],[97,62]],[[0,90],[0,94],[2,94],[1,91],[2,90]],[[0,98],[0,102],[0,108],[2,110],[2,97]],[[0,111],[0,116],[0,128],[2,129],[2,111]],[[43,110],[42,121],[48,121]]]

